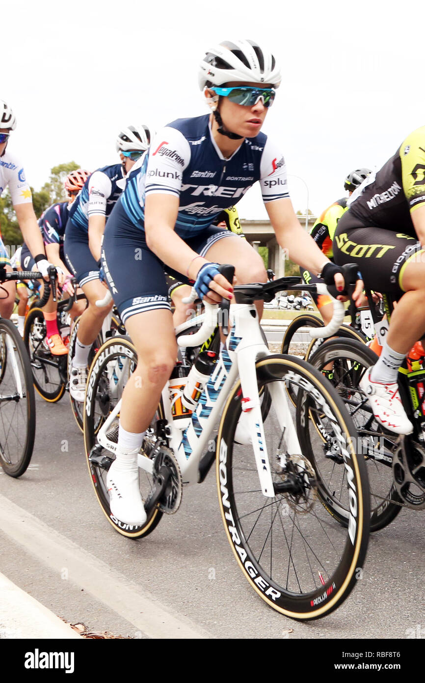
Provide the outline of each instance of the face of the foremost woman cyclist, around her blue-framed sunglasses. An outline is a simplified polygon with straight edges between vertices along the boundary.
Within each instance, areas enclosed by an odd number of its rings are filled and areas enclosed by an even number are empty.
[[[264,83],[226,83],[226,87],[238,85],[250,85],[259,88],[272,87]],[[220,115],[224,126],[242,137],[258,135],[266,114],[267,108],[261,100],[257,104],[253,104],[252,107],[245,107],[244,104],[231,102],[227,97],[220,98]]]

